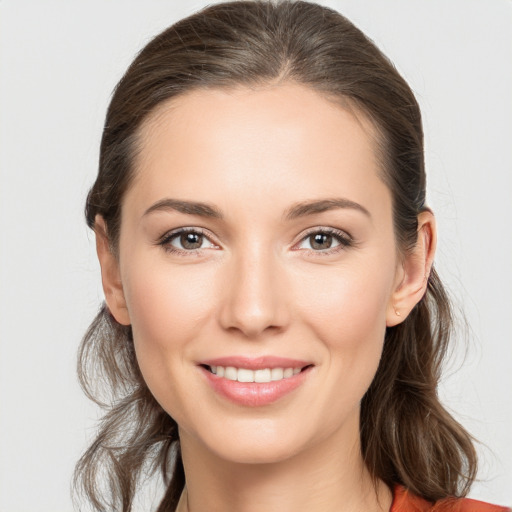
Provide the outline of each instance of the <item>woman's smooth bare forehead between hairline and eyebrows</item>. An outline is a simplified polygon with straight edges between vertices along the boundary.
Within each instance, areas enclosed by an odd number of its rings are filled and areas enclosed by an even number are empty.
[[[377,147],[366,116],[303,85],[193,90],[142,125],[127,196],[247,201],[249,190],[253,201],[342,194],[371,202],[387,193]]]

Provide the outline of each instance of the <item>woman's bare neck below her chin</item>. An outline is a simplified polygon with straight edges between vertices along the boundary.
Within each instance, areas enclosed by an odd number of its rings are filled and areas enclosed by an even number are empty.
[[[178,512],[384,512],[392,495],[374,484],[357,441],[325,440],[268,464],[227,461],[186,434],[181,451],[186,487]],[[333,450],[333,446],[337,446]]]

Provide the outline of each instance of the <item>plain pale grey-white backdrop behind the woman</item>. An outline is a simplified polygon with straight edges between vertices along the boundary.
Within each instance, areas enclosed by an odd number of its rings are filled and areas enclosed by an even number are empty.
[[[437,268],[470,329],[440,394],[512,505],[512,2],[339,0],[421,104]],[[0,512],[71,511],[97,409],[75,360],[103,295],[83,205],[111,91],[206,2],[0,0]],[[141,505],[140,510],[149,510]]]

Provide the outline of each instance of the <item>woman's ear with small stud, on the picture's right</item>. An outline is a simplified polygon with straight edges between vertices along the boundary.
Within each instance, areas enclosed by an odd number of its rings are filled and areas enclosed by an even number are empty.
[[[428,277],[434,261],[437,231],[434,214],[418,215],[418,237],[414,248],[407,252],[397,272],[395,289],[386,312],[386,325],[392,327],[407,318],[427,291]]]

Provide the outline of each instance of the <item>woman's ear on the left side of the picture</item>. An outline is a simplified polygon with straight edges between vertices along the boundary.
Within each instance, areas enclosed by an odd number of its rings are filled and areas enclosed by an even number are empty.
[[[101,267],[101,282],[108,309],[117,322],[122,325],[130,325],[130,317],[119,272],[119,262],[112,253],[105,221],[101,215],[96,215],[94,232],[96,234],[96,252]]]

